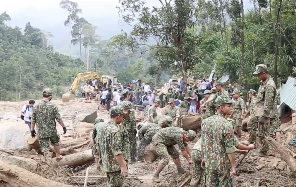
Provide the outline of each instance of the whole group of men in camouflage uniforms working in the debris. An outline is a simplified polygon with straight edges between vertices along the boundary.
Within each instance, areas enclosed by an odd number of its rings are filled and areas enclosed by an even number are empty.
[[[190,151],[187,142],[194,140],[196,133],[192,130],[183,130],[182,115],[180,107],[175,106],[174,99],[169,99],[170,105],[168,115],[157,115],[156,108],[160,104],[160,99],[156,98],[154,104],[145,112],[149,116],[147,125],[138,124],[136,127],[134,107],[130,102],[129,91],[124,91],[124,101],[119,106],[111,108],[110,121],[104,122],[102,118],[97,118],[93,138],[95,139],[94,156],[99,169],[99,162],[102,162],[104,170],[107,172],[108,186],[122,186],[124,178],[127,176],[128,162],[143,161],[145,147],[152,143],[160,157],[156,173],[153,180],[160,182],[159,174],[168,165],[170,157],[177,166],[178,173],[184,173],[181,167],[179,154],[174,145],[178,144],[182,155],[189,164],[194,166],[194,177],[191,186],[197,186],[205,173],[205,184],[212,186],[231,186],[231,178],[236,175],[235,152],[244,154],[246,150],[254,149],[254,145],[243,145],[237,140],[234,131],[240,136],[241,120],[250,114],[248,128],[250,138],[253,143],[256,136],[259,137],[262,146],[255,153],[256,156],[268,155],[268,144],[264,141],[269,133],[277,133],[279,130],[279,117],[276,104],[279,102],[279,95],[276,85],[268,73],[266,65],[257,65],[257,75],[263,82],[255,97],[255,90],[249,91],[250,111],[244,114],[245,104],[240,100],[239,93],[234,92],[234,100],[229,98],[229,94],[224,90],[221,83],[216,83],[216,90],[205,91],[202,106],[206,107],[202,117],[201,138]],[[216,93],[215,93],[216,91]],[[59,155],[59,136],[57,135],[57,120],[66,128],[59,115],[57,106],[50,103],[52,91],[43,91],[43,101],[38,104],[33,111],[31,134],[36,136],[35,125],[38,129],[38,137],[42,152],[49,152],[49,141],[54,146],[57,154],[57,161],[62,159]],[[187,99],[184,98],[186,101]],[[186,104],[186,102],[185,102]],[[148,106],[146,106],[148,107]],[[181,106],[182,107],[182,106]],[[185,108],[185,107],[184,107]],[[140,144],[138,155],[136,149],[136,133],[138,128]],[[269,130],[271,128],[271,131]],[[204,172],[205,171],[205,172]]]

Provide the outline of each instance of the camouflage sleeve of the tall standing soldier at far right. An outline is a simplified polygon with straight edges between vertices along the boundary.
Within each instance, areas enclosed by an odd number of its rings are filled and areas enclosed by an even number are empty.
[[[270,110],[273,109],[273,102],[275,96],[275,89],[271,85],[266,85],[265,87],[265,99],[263,106],[263,115],[264,117],[270,117]]]

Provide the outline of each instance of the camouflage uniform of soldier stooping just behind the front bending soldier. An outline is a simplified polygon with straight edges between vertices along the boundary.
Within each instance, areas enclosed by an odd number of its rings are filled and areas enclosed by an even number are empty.
[[[152,137],[159,131],[161,127],[155,123],[149,123],[147,125],[143,125],[138,132],[139,135],[139,148],[138,148],[138,156],[143,157],[144,151],[147,145],[149,145],[152,141]]]

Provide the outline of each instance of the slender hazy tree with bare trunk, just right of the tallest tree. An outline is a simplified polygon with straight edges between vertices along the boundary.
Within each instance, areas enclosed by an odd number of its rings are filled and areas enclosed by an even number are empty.
[[[71,31],[72,35],[72,40],[71,43],[73,45],[77,44],[79,42],[80,44],[80,65],[82,65],[82,51],[81,51],[81,46],[82,46],[82,36],[83,36],[83,25],[89,24],[91,25],[88,21],[86,21],[83,17],[77,18],[74,21],[74,25],[72,26],[73,31]]]

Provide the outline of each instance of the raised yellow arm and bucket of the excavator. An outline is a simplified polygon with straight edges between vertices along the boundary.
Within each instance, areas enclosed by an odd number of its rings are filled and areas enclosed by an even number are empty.
[[[76,78],[73,81],[68,93],[62,95],[63,102],[68,102],[68,101],[74,99],[74,93],[75,93],[75,90],[78,88],[79,83],[81,81],[86,81],[86,80],[89,80],[92,78],[98,79],[98,78],[100,78],[100,75],[97,72],[78,73],[76,75]]]

